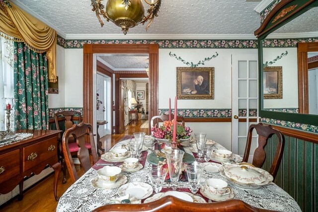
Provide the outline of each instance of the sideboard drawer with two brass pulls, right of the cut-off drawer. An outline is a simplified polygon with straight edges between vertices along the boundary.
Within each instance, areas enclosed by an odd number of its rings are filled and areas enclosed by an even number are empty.
[[[57,158],[57,144],[57,138],[52,138],[23,147],[23,171],[51,157]]]

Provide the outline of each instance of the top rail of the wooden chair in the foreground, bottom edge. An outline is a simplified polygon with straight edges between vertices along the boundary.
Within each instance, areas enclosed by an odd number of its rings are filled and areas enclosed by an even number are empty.
[[[190,203],[166,196],[147,204],[114,204],[95,209],[93,212],[273,212],[252,207],[241,200],[219,203]]]

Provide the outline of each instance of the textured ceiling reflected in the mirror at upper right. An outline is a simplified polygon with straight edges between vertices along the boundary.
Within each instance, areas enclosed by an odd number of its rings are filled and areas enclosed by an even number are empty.
[[[291,20],[273,33],[318,32],[318,7]]]

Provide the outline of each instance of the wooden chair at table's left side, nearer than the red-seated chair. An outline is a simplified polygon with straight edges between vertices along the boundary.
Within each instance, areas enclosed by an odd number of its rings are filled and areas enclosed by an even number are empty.
[[[91,151],[88,150],[85,139],[88,137]],[[77,156],[79,158],[80,165],[84,168],[84,171],[88,171],[91,167],[89,155],[92,155],[92,163],[97,162],[97,151],[94,142],[93,130],[90,124],[85,124],[83,122],[79,125],[74,124],[72,128],[65,131],[62,138],[62,148],[63,154],[65,156],[65,162],[70,173],[73,183],[79,179],[77,171],[74,166],[72,159],[71,148],[69,144],[69,139],[72,138],[78,146]]]

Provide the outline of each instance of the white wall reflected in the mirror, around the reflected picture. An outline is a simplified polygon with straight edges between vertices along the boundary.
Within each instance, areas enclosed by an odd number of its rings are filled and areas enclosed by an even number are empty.
[[[265,99],[264,108],[298,108],[297,48],[264,48],[263,63],[273,61],[286,51],[287,56],[271,65],[281,66],[283,69],[283,98]]]

